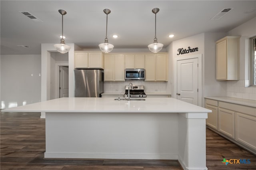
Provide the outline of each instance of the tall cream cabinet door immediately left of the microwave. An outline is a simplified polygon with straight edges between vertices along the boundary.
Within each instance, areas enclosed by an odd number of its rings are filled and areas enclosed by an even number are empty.
[[[125,81],[124,79],[124,55],[117,54],[114,56],[114,79],[115,81]]]

